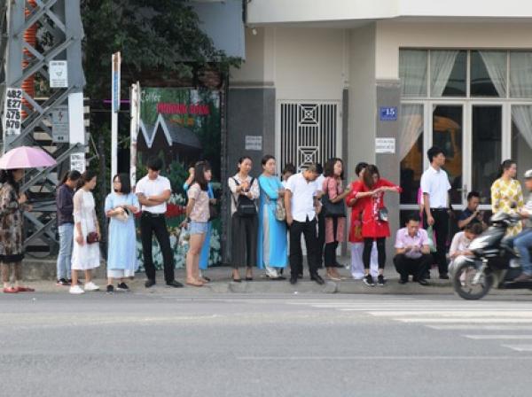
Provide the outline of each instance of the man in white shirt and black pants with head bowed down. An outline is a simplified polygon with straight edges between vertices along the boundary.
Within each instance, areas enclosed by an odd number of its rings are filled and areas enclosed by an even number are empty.
[[[317,199],[317,167],[311,164],[299,174],[290,176],[286,183],[285,207],[286,222],[290,228],[290,284],[296,284],[302,273],[301,233],[307,246],[310,279],[317,284],[325,284],[317,274],[317,214],[321,205]]]

